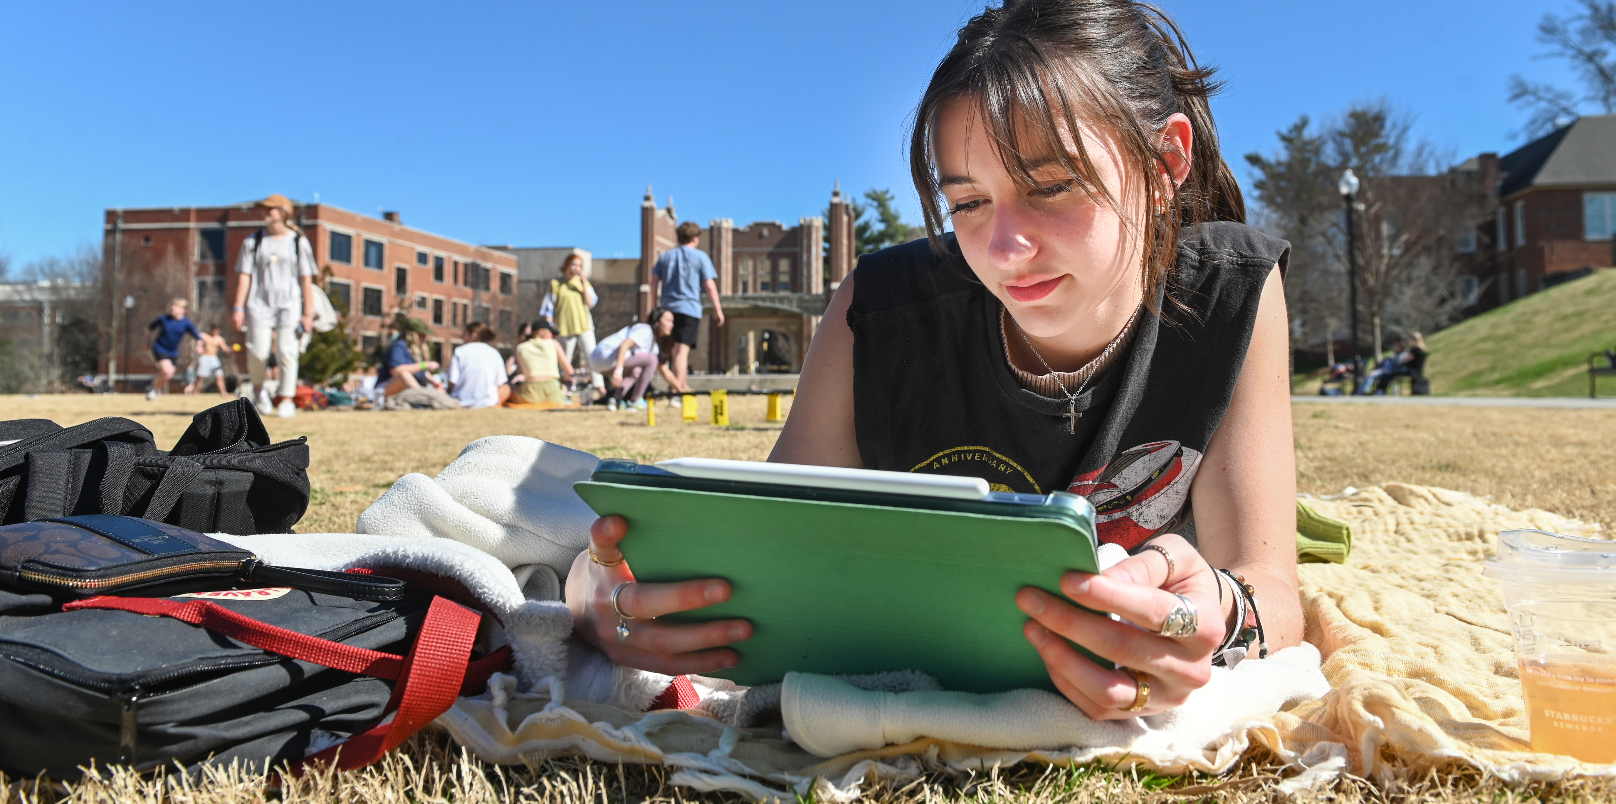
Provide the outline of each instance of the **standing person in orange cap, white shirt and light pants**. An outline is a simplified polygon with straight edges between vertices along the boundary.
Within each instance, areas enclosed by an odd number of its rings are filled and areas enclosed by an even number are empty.
[[[241,244],[236,273],[236,304],[231,321],[247,333],[247,371],[257,389],[257,407],[263,415],[283,418],[297,415],[292,394],[297,391],[299,325],[314,331],[314,276],[318,271],[309,239],[291,224],[292,202],[281,194],[257,202],[265,210],[263,228]],[[275,399],[263,387],[270,349],[280,365]]]

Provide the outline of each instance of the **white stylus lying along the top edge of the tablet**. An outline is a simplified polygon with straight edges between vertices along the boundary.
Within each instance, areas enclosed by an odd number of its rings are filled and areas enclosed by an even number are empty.
[[[916,497],[979,500],[992,491],[983,478],[920,475],[842,467],[810,467],[803,463],[764,463],[724,459],[672,459],[656,462],[656,468],[685,478],[729,479],[739,483],[777,483],[816,489],[874,491]]]

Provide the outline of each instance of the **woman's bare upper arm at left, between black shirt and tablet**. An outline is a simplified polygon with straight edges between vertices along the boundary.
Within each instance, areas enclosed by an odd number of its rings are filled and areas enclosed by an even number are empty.
[[[792,413],[769,452],[772,462],[865,468],[853,433],[853,331],[847,326],[856,273],[835,289],[808,342]]]

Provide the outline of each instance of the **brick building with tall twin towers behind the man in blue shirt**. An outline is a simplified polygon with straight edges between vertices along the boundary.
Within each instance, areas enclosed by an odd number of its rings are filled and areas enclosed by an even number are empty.
[[[708,221],[700,249],[713,258],[719,300],[727,318],[722,328],[703,297],[705,321],[690,370],[703,373],[792,373],[802,368],[808,342],[819,326],[829,294],[853,270],[853,205],[840,186],[831,192],[831,220],[805,216],[795,226],[751,221],[735,226],[729,218]],[[654,305],[651,268],[663,252],[677,245],[679,216],[672,199],[658,207],[651,189],[640,202],[640,258],[595,260],[601,278],[601,334],[642,318]],[[829,231],[827,231],[829,229]],[[632,270],[632,273],[630,273]],[[600,283],[596,283],[600,286]],[[632,294],[632,307],[624,295]],[[611,302],[611,304],[609,304]]]

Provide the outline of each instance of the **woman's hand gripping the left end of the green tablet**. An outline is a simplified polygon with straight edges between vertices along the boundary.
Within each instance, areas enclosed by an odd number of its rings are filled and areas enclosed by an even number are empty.
[[[574,631],[600,647],[612,662],[653,673],[684,675],[709,673],[735,667],[740,657],[722,647],[729,643],[751,639],[751,623],[747,620],[718,620],[696,625],[664,625],[656,617],[688,612],[729,599],[729,581],[708,578],[682,583],[638,583],[629,570],[617,542],[629,534],[629,520],[601,517],[590,526],[590,549],[600,563],[590,560],[588,551],[579,554],[567,575],[567,607],[572,609]],[[608,567],[609,563],[609,567]],[[617,607],[633,617],[621,620],[612,609],[612,593]],[[629,638],[619,641],[617,623],[629,626]]]

